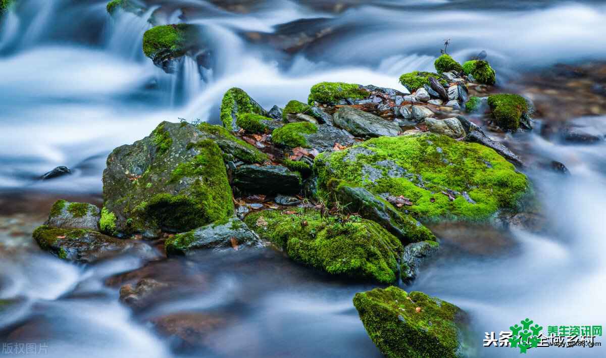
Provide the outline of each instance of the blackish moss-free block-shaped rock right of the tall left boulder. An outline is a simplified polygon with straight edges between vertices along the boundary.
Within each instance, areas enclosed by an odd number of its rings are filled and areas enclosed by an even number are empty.
[[[301,176],[281,165],[242,165],[234,172],[233,185],[248,194],[296,194]]]

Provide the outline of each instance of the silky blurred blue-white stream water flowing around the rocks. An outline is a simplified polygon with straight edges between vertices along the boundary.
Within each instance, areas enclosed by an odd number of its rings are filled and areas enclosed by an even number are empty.
[[[606,59],[602,1],[235,3],[150,0],[142,16],[112,18],[104,1],[21,0],[0,20],[0,240],[17,253],[0,256],[0,299],[19,300],[0,313],[0,343],[36,342],[52,357],[379,357],[351,304],[353,294],[372,286],[328,279],[273,250],[151,264],[167,280],[187,276],[196,284],[133,313],[118,300],[119,280],[106,279],[141,262],[67,264],[34,250],[28,233],[53,199],[98,203],[105,157],[118,145],[164,120],[218,122],[230,87],[265,108],[304,101],[320,81],[401,88],[402,73],[432,70],[447,38],[457,59],[486,50],[502,84],[557,62]],[[167,75],[146,59],[141,39],[152,13],[159,24],[204,25],[210,68],[185,59]],[[605,117],[581,120],[604,131]],[[406,288],[468,311],[479,345],[485,331],[507,331],[525,317],[542,325],[606,323],[606,148],[538,134],[516,139],[528,156],[563,162],[572,173],[527,172],[549,234],[436,227],[442,250]],[[57,165],[75,173],[38,180]],[[175,349],[148,323],[209,311],[221,324],[193,351]],[[531,354],[602,357],[604,349]],[[479,348],[483,357],[518,354]]]

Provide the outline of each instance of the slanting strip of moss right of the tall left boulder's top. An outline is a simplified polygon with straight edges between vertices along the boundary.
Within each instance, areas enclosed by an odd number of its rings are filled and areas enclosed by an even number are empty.
[[[267,161],[267,155],[259,151],[253,145],[237,138],[230,131],[224,127],[221,127],[220,125],[212,125],[202,122],[198,125],[198,129],[206,133],[213,134],[213,136],[218,136],[219,138],[216,140],[216,142],[219,147],[221,147],[221,150],[223,150],[225,153],[233,154],[233,156],[243,162],[253,164]]]

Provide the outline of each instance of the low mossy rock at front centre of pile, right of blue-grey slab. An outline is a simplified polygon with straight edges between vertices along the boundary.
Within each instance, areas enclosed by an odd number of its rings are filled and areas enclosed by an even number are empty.
[[[398,279],[402,244],[376,222],[356,216],[341,222],[315,210],[258,211],[244,222],[291,259],[329,274],[379,283]]]

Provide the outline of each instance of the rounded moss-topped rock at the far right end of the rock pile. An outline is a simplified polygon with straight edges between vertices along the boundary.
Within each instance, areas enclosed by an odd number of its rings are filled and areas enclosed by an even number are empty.
[[[528,111],[528,103],[518,94],[493,94],[488,97],[488,105],[496,123],[504,130],[518,130],[522,114]]]

